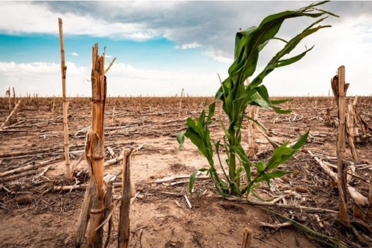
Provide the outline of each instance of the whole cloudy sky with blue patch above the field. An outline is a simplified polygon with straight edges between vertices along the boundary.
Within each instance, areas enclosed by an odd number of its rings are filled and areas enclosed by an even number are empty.
[[[58,19],[63,20],[69,96],[90,94],[91,47],[106,46],[109,95],[213,95],[217,73],[227,76],[239,27],[269,14],[297,9],[309,0],[2,0],[0,94],[61,94]],[[372,1],[333,0],[324,5],[340,18],[306,38],[315,48],[299,63],[272,72],[264,84],[272,96],[328,95],[330,78],[346,66],[349,94],[371,95]],[[285,22],[279,35],[296,35],[313,20]],[[270,42],[257,72],[283,44]],[[254,75],[253,75],[254,76]],[[3,92],[1,92],[3,91]]]

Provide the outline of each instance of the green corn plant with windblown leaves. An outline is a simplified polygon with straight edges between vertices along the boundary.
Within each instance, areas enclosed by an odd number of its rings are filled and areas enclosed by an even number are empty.
[[[203,110],[198,119],[187,118],[186,131],[177,135],[177,141],[180,143],[180,148],[184,142],[184,137],[187,137],[196,145],[200,154],[208,160],[210,165],[209,169],[200,169],[198,171],[207,171],[219,194],[237,196],[246,194],[248,196],[250,190],[254,189],[258,183],[266,181],[269,185],[270,179],[282,177],[287,173],[278,170],[277,168],[279,165],[290,159],[306,142],[309,132],[305,133],[294,145],[288,147],[288,142],[286,142],[279,148],[275,149],[272,157],[268,161],[251,162],[241,145],[241,128],[242,122],[245,119],[249,119],[256,124],[259,124],[245,115],[247,105],[260,106],[266,109],[271,108],[281,114],[290,112],[289,110],[283,110],[278,106],[288,100],[270,100],[267,89],[262,82],[266,75],[275,68],[293,64],[313,49],[314,46],[309,49],[306,48],[304,52],[293,57],[283,58],[283,56],[290,53],[303,38],[314,34],[320,29],[331,27],[330,25],[318,25],[328,16],[336,16],[330,12],[317,8],[319,5],[328,1],[329,0],[322,0],[316,4],[311,4],[295,11],[284,11],[268,16],[262,20],[258,27],[253,26],[244,31],[238,32],[235,37],[234,62],[229,68],[229,76],[224,81],[221,81],[220,79],[221,86],[216,92],[215,101],[209,105],[208,115],[206,115],[205,110]],[[300,34],[294,36],[288,41],[275,36],[280,30],[284,20],[298,17],[317,18],[317,20],[305,28]],[[259,53],[272,39],[283,41],[283,49],[276,53],[264,70],[261,71],[248,86],[246,86],[245,81],[256,71]],[[223,139],[220,141],[214,141],[211,139],[208,128],[209,124],[212,122],[215,103],[217,101],[222,101],[223,112],[227,115],[229,120],[229,125],[225,126],[221,118],[217,116],[217,119],[224,130]],[[225,166],[221,161],[219,153],[220,149],[226,152],[227,159],[225,162],[227,170],[225,170]],[[214,152],[216,153],[219,165],[222,168],[225,177],[224,179],[220,178],[217,174],[213,160]],[[253,178],[250,176],[251,166],[254,166],[257,169],[257,175]],[[241,179],[244,178],[242,177],[242,174],[244,173],[243,170],[246,174],[246,182],[244,182],[244,184],[241,183]],[[190,177],[190,193],[198,171],[195,171]],[[245,185],[245,187],[242,187],[242,185]]]

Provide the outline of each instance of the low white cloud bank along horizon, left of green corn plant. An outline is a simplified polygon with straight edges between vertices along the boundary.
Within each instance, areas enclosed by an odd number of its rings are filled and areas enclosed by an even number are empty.
[[[69,96],[91,94],[90,67],[77,67],[67,62],[66,88]],[[213,95],[218,89],[213,73],[194,71],[159,71],[138,69],[124,63],[114,63],[107,72],[107,95],[171,96],[185,89],[190,95]],[[61,95],[61,68],[55,63],[0,62],[0,81],[15,87],[18,94],[39,93],[41,96]],[[35,89],[27,88],[34,86]]]

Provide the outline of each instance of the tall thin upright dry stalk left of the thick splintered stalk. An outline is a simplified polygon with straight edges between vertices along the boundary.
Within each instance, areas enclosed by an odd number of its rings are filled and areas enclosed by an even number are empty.
[[[65,65],[65,46],[63,43],[63,29],[62,19],[58,18],[59,24],[59,42],[61,45],[61,73],[62,73],[62,101],[63,101],[63,138],[65,146],[65,159],[66,159],[66,174],[68,178],[71,178],[70,170],[70,152],[69,152],[69,125],[67,122],[67,108],[68,102],[66,101],[66,70]]]

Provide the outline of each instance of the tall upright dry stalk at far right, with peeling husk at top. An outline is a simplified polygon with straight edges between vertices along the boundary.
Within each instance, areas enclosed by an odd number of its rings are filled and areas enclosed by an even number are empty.
[[[338,68],[337,79],[338,92],[335,89],[335,97],[337,98],[338,106],[338,133],[337,133],[337,184],[338,184],[338,202],[339,202],[339,215],[341,221],[350,223],[350,217],[347,209],[346,197],[346,166],[343,161],[345,156],[345,106],[346,106],[346,92],[345,92],[345,67]],[[336,85],[336,82],[335,82]]]

